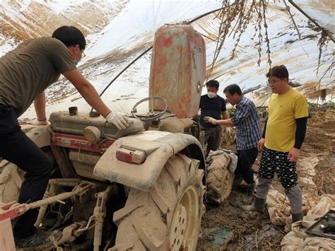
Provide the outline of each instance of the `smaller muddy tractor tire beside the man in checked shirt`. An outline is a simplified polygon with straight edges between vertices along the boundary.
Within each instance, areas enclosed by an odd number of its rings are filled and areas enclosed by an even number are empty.
[[[230,173],[230,157],[221,153],[212,157],[212,163],[207,168],[207,199],[212,204],[222,204],[229,196],[234,175]]]

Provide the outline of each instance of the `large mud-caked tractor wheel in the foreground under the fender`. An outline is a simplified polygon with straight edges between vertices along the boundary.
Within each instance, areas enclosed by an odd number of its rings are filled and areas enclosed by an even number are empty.
[[[204,170],[199,160],[172,156],[153,189],[130,189],[114,213],[115,246],[110,250],[196,250],[205,206]]]

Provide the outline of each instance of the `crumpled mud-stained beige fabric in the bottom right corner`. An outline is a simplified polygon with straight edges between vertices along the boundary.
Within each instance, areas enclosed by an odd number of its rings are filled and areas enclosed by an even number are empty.
[[[335,195],[324,194],[319,203],[307,212],[307,216],[302,221],[292,224],[292,231],[281,240],[281,250],[335,250],[335,240],[305,233],[305,230],[312,226],[320,216],[327,214],[329,209],[335,209]]]

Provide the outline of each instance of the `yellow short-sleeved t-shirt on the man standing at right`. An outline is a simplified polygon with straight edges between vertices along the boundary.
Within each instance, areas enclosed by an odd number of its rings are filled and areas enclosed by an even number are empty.
[[[290,151],[295,144],[295,119],[307,116],[307,100],[298,91],[290,89],[281,95],[272,94],[266,123],[265,147],[274,151]]]

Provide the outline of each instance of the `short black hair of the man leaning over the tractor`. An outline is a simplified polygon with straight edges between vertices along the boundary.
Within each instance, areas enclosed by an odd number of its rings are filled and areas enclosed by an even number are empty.
[[[61,42],[66,45],[66,47],[79,45],[79,48],[81,50],[84,50],[86,47],[86,40],[78,28],[74,26],[61,26],[54,30],[54,33],[52,33],[52,37],[57,38],[58,40],[61,40]]]

